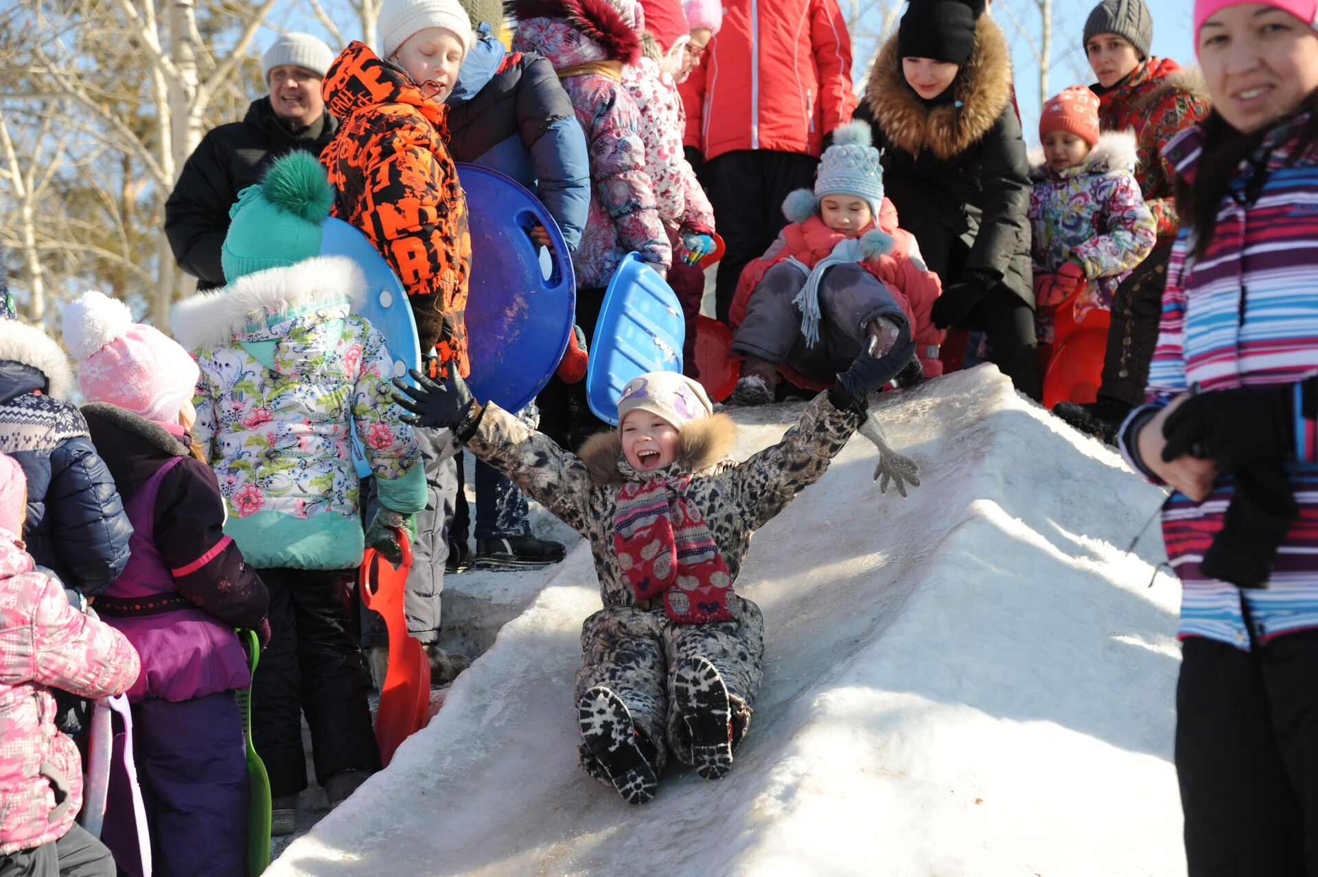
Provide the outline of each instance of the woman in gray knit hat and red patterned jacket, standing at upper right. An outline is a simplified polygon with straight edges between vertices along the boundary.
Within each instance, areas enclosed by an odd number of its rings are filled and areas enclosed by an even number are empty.
[[[1144,401],[1149,360],[1162,313],[1162,284],[1180,228],[1172,199],[1172,166],[1162,146],[1209,113],[1203,78],[1170,58],[1149,54],[1153,17],[1144,0],[1101,0],[1085,21],[1085,57],[1094,69],[1098,124],[1135,132],[1135,179],[1157,223],[1153,252],[1112,297],[1112,328],[1098,400],[1060,402],[1053,411],[1075,429],[1114,442],[1131,409]]]

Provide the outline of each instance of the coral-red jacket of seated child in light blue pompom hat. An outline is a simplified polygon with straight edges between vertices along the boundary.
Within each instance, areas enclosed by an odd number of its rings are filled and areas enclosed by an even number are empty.
[[[874,227],[874,224],[866,226],[861,233],[863,235]],[[933,310],[933,303],[942,294],[942,284],[937,274],[925,268],[915,236],[898,227],[898,208],[887,198],[879,206],[878,228],[892,236],[892,249],[861,264],[892,291],[898,306],[911,320],[916,356],[920,359],[920,365],[924,367],[924,376],[927,378],[937,377],[942,375],[942,361],[938,359],[942,331],[933,324],[929,311]],[[729,322],[735,327],[746,319],[746,305],[770,268],[793,257],[807,268],[815,268],[846,236],[825,226],[818,215],[811,215],[805,222],[795,222],[783,228],[768,251],[759,258],[747,262],[746,268],[742,269],[741,280],[737,282],[737,294],[728,311]],[[821,384],[800,375],[786,363],[779,365],[779,371],[792,384],[805,389],[832,386],[832,382]]]

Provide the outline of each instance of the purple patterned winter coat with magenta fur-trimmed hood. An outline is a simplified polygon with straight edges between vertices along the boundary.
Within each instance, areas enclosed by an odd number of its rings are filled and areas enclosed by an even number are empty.
[[[513,12],[513,50],[550,59],[585,132],[590,208],[572,253],[577,289],[608,286],[629,252],[667,272],[672,245],[646,173],[641,113],[622,86],[623,65],[641,57],[641,37],[605,0],[515,0]]]

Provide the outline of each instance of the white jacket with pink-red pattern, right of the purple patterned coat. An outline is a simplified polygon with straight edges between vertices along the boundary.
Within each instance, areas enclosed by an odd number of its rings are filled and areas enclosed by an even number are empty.
[[[651,58],[623,67],[622,86],[641,111],[646,173],[655,190],[659,218],[683,233],[713,235],[714,208],[681,150],[687,113],[677,86]]]

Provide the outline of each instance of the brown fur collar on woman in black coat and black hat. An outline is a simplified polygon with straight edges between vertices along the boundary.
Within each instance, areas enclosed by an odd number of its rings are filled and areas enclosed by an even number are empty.
[[[956,102],[925,106],[902,75],[898,34],[874,57],[865,102],[888,144],[919,156],[928,148],[946,161],[988,133],[1011,102],[1011,53],[988,16],[975,25],[975,47],[952,86]]]

